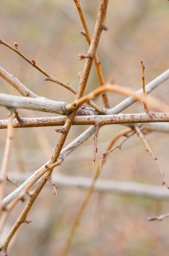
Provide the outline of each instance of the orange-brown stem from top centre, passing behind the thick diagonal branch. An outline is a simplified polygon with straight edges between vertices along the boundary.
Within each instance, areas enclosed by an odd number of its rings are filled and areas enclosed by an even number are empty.
[[[84,16],[83,9],[81,7],[81,3],[79,0],[74,0],[74,2],[76,4],[77,10],[79,12],[81,23],[82,23],[82,26],[84,29],[84,31],[81,31],[81,34],[85,36],[86,41],[88,42],[88,45],[90,45],[90,42],[91,42],[90,31],[88,29],[88,24],[87,24],[86,18]],[[106,17],[106,13],[105,13],[105,17]],[[105,29],[105,20],[106,20],[105,17],[103,20],[103,29]],[[102,68],[101,68],[101,61],[99,60],[97,52],[95,53],[95,56],[94,56],[94,64],[95,64],[97,76],[99,79],[99,85],[100,86],[105,85],[105,80],[104,80],[103,72],[102,72]],[[109,108],[108,97],[105,92],[102,93],[102,101],[103,101],[103,106],[105,108]]]

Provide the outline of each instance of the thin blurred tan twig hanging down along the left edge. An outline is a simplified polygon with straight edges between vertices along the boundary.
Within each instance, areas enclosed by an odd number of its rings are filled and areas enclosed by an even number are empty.
[[[0,171],[0,208],[3,194],[4,194],[4,187],[6,181],[6,175],[9,167],[9,160],[11,155],[11,146],[12,146],[12,139],[13,139],[13,110],[8,110],[8,128],[7,128],[7,139],[5,144],[4,150],[4,157],[2,159],[2,166]]]

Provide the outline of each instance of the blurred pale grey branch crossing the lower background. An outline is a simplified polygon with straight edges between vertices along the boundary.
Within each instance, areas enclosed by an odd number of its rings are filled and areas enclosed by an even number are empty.
[[[15,173],[11,174],[11,179],[17,182],[23,182],[29,177],[29,173]],[[57,182],[57,185],[66,187],[78,187],[82,189],[88,189],[92,179],[88,177],[79,177],[72,175],[53,174],[53,180]],[[169,191],[162,186],[140,184],[138,182],[124,182],[119,180],[106,180],[98,179],[95,187],[95,191],[101,192],[113,192],[127,195],[139,195],[148,196],[156,199],[169,200]]]

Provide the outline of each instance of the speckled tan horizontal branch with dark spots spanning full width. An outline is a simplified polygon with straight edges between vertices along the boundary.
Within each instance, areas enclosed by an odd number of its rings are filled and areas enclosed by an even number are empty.
[[[39,118],[20,118],[13,120],[14,128],[44,127],[44,126],[63,126],[67,117],[39,117]],[[138,113],[138,114],[119,114],[119,115],[94,115],[77,116],[73,125],[95,125],[100,126],[111,124],[138,124],[138,123],[158,123],[169,122],[169,113]],[[0,120],[0,129],[7,128],[8,119]]]

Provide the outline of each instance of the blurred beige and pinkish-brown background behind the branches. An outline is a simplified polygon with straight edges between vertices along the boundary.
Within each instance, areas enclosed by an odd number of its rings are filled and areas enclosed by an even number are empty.
[[[92,33],[97,16],[99,0],[81,0],[83,11]],[[115,82],[138,90],[142,86],[140,60],[145,65],[145,82],[148,83],[168,69],[169,65],[169,2],[147,0],[109,1],[107,12],[108,31],[103,31],[98,47],[105,81],[110,75]],[[82,30],[74,1],[70,0],[0,0],[0,37],[19,49],[37,65],[63,82],[78,88],[77,73],[82,72],[84,60],[78,54],[86,53],[88,45],[79,33]],[[45,76],[26,63],[15,52],[0,45],[0,65],[30,90],[40,96],[56,101],[71,102],[74,94],[56,83],[44,81]],[[169,81],[154,90],[151,95],[168,103]],[[97,74],[92,67],[86,93],[98,87]],[[14,88],[0,78],[0,92],[19,95]],[[108,93],[110,107],[125,97]],[[102,106],[101,97],[96,102]],[[134,103],[125,113],[142,112],[143,106]],[[50,113],[19,110],[20,117],[55,116]],[[0,119],[7,119],[7,110],[0,107]],[[88,126],[73,126],[66,144],[85,131]],[[124,126],[105,126],[99,132],[99,156],[110,139]],[[7,130],[0,130],[0,161],[4,153]],[[14,130],[13,150],[9,177],[19,172],[33,173],[52,155],[59,134],[55,127],[23,128]],[[166,180],[169,181],[167,133],[152,132],[147,141],[158,157]],[[53,173],[92,177],[93,138],[69,155]],[[101,178],[136,181],[145,184],[161,184],[161,177],[154,161],[145,147],[134,135],[114,151],[103,166]],[[57,180],[55,180],[57,183]],[[8,184],[6,194],[13,191]],[[10,256],[60,255],[70,227],[79,210],[86,190],[58,187],[59,195],[46,185],[33,205],[29,218],[32,222],[22,225],[9,248]],[[25,205],[19,202],[11,214],[4,234],[10,230]],[[118,195],[95,191],[83,215],[70,256],[154,256],[168,255],[169,219],[147,222],[148,216],[169,211],[168,201],[140,196]]]

